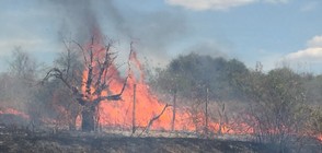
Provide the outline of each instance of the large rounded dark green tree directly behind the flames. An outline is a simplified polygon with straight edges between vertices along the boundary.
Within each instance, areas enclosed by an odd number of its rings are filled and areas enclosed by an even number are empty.
[[[246,72],[245,66],[237,59],[192,52],[173,59],[165,69],[159,69],[152,85],[163,93],[175,89],[179,95],[191,99],[204,99],[206,89],[209,89],[210,99],[232,99],[239,92],[233,89],[233,80]]]

